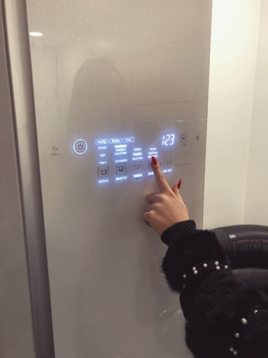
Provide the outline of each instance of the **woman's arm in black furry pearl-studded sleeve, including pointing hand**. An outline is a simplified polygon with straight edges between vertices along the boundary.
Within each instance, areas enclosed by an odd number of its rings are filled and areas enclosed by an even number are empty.
[[[267,294],[235,280],[215,234],[189,219],[181,181],[171,189],[155,158],[152,167],[159,193],[147,195],[143,219],[169,247],[162,268],[180,294],[194,357],[267,358]]]

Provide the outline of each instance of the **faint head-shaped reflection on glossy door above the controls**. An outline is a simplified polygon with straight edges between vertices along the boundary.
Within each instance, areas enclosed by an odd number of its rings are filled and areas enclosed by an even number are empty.
[[[108,58],[84,62],[73,81],[69,131],[76,135],[118,131],[130,120],[131,105],[123,78]]]

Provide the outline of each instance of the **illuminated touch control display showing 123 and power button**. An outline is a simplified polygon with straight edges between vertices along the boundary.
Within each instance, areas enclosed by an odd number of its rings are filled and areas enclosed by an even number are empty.
[[[152,156],[167,175],[174,167],[191,165],[196,154],[204,152],[205,134],[206,121],[136,122],[128,135],[78,138],[73,150],[79,156],[94,156],[96,182],[103,186],[153,177]]]

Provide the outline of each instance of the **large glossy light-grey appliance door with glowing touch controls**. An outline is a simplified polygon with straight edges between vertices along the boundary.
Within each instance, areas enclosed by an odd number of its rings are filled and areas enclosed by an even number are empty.
[[[211,1],[29,0],[27,11],[29,30],[43,33],[31,38],[31,64],[56,357],[188,357],[160,270],[166,247],[141,217],[157,148],[202,226]],[[94,142],[132,137],[121,148]]]

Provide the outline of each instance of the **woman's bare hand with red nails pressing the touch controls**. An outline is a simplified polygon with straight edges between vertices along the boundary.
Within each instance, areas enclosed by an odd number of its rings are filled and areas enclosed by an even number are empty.
[[[146,196],[148,207],[143,214],[143,220],[155,230],[157,235],[162,235],[174,223],[189,219],[188,209],[181,198],[178,183],[171,189],[164,178],[160,165],[152,158],[151,167],[155,173],[155,180],[160,193],[150,193]],[[156,164],[154,164],[155,162]]]

